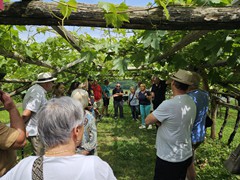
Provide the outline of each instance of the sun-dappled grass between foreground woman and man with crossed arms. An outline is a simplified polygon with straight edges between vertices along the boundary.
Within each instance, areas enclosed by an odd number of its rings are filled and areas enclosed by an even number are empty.
[[[153,179],[156,129],[140,130],[126,108],[124,119],[103,118],[98,124],[98,155],[117,179]]]

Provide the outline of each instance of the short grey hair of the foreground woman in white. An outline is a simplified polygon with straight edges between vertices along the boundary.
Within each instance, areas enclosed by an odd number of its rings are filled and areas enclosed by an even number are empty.
[[[39,136],[46,148],[68,143],[72,130],[84,120],[81,103],[67,96],[51,99],[37,116]]]

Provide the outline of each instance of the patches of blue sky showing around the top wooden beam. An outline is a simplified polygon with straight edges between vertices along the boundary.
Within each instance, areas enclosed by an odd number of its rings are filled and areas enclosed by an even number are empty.
[[[14,0],[15,1],[15,0]],[[52,2],[51,0],[43,0],[45,2]],[[67,0],[66,0],[67,1]],[[77,0],[78,3],[86,3],[86,4],[98,4],[101,0]],[[147,4],[154,3],[154,0],[102,0],[103,2],[110,2],[114,4],[120,4],[122,2],[125,2],[128,6],[147,6]],[[23,40],[27,40],[31,34],[35,34],[36,30],[34,26],[27,26],[28,32],[22,32],[20,33],[20,38]],[[79,29],[79,27],[66,27],[69,31],[73,31],[76,29]],[[78,31],[79,34],[88,33],[92,37],[100,38],[103,36],[103,31],[100,28],[92,28],[90,27],[81,27]],[[114,36],[114,34],[111,34]],[[39,42],[45,41],[48,37],[55,36],[55,34],[47,32],[46,34],[39,34],[35,36],[35,39]]]

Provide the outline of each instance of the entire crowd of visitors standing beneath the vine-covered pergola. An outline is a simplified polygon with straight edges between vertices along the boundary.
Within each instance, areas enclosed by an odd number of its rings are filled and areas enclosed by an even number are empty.
[[[94,113],[108,115],[109,82],[105,80],[101,87],[96,80],[88,79],[87,83],[73,85],[68,91],[70,97],[65,96],[64,84],[59,83],[55,86],[58,91],[47,100],[46,93],[52,90],[55,80],[51,73],[38,75],[23,99],[22,116],[9,95],[0,91],[0,100],[10,115],[10,127],[0,123],[0,177],[116,179],[106,162],[97,156],[86,156],[97,154]],[[195,179],[194,150],[205,138],[208,93],[198,89],[200,76],[186,70],[180,69],[171,81],[155,76],[152,80],[149,91],[144,83],[139,83],[137,90],[131,87],[128,102],[134,120],[140,110],[140,129],[157,126],[154,179],[185,179],[186,175],[189,180]],[[165,100],[167,84],[171,84],[173,97]],[[115,118],[118,111],[119,117],[124,117],[123,95],[117,83],[112,91]],[[100,113],[101,103],[104,108]],[[14,167],[14,150],[24,147],[26,138],[36,156],[27,157]]]

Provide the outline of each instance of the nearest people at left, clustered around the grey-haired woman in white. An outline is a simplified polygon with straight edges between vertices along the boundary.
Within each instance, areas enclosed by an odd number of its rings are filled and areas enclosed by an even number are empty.
[[[38,75],[23,99],[22,116],[9,95],[0,91],[10,115],[10,127],[0,123],[1,179],[116,179],[106,162],[86,156],[96,154],[97,144],[96,122],[87,110],[87,91],[75,89],[71,97],[47,100],[46,93],[55,80],[51,73]],[[24,147],[26,138],[35,156],[15,165],[14,150]]]

